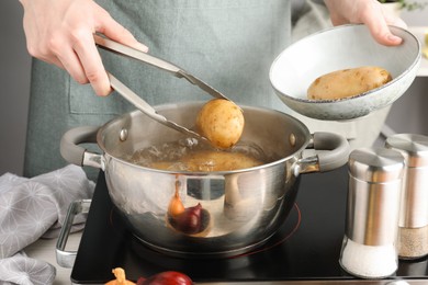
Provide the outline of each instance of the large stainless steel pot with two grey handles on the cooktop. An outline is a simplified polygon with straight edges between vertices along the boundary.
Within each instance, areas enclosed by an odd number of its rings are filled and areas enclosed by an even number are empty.
[[[192,127],[202,104],[165,105],[157,111]],[[69,162],[105,172],[113,204],[131,231],[153,249],[180,256],[239,254],[266,242],[284,223],[294,205],[300,174],[341,167],[349,155],[349,145],[339,135],[311,135],[300,121],[277,111],[243,110],[241,141],[256,145],[271,162],[224,172],[172,172],[133,164],[129,157],[136,150],[182,136],[139,111],[100,128],[70,129],[61,139],[61,155]],[[103,153],[85,150],[82,142],[98,142]],[[304,157],[309,148],[315,155]],[[168,215],[177,185],[185,208],[202,206],[198,231],[177,227]]]

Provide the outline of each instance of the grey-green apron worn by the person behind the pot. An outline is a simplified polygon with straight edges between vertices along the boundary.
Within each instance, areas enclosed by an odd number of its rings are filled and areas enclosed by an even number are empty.
[[[177,64],[245,105],[281,109],[269,83],[274,57],[289,45],[286,0],[100,0],[149,53]],[[156,68],[102,52],[106,70],[149,104],[211,99],[198,88]],[[33,61],[24,175],[63,167],[63,134],[102,125],[134,110],[120,95],[95,96],[64,70]]]

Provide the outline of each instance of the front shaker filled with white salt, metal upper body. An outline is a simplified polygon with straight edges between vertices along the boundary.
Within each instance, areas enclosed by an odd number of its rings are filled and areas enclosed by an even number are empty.
[[[349,156],[346,231],[339,263],[362,278],[382,278],[398,267],[396,239],[404,157],[386,148]]]

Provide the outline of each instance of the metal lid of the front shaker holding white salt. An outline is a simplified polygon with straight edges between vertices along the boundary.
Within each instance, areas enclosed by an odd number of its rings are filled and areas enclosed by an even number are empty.
[[[349,156],[349,171],[352,176],[372,183],[402,179],[404,157],[387,148],[360,148]]]

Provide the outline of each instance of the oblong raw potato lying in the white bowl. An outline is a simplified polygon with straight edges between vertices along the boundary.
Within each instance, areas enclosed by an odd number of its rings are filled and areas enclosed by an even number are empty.
[[[392,80],[390,72],[375,66],[334,71],[318,77],[308,88],[311,100],[338,100],[379,88]]]

